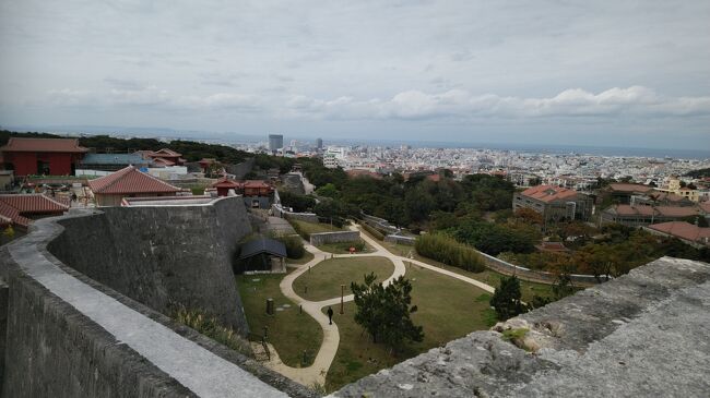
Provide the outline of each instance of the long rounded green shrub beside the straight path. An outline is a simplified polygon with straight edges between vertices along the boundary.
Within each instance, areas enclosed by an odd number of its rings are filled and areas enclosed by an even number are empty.
[[[481,255],[466,244],[442,233],[419,236],[414,243],[416,252],[425,257],[465,270],[480,273],[485,269]]]

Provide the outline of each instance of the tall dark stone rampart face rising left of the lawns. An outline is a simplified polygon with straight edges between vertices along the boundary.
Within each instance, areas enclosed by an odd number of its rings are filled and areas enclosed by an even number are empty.
[[[58,221],[49,251],[78,272],[166,315],[182,305],[248,326],[232,275],[251,231],[240,197],[213,205],[110,207]]]

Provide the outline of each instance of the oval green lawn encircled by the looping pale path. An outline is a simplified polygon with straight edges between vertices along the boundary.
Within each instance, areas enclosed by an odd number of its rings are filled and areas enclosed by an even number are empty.
[[[386,257],[330,258],[301,274],[293,286],[294,291],[304,299],[321,301],[340,297],[341,285],[345,285],[345,296],[350,294],[350,284],[362,281],[366,274],[375,273],[378,280],[384,280],[393,272],[394,264]]]

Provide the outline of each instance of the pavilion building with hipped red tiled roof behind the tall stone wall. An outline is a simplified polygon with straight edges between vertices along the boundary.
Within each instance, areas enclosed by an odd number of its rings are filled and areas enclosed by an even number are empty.
[[[120,206],[123,197],[173,196],[181,189],[133,166],[88,181],[98,206]]]

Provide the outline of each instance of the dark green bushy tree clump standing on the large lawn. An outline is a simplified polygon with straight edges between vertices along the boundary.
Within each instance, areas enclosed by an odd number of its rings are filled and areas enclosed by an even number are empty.
[[[376,282],[374,273],[365,275],[363,285],[352,282],[355,297],[355,322],[372,338],[380,340],[392,351],[399,351],[407,341],[422,341],[424,331],[416,326],[410,315],[416,312],[412,304],[412,284],[403,276],[383,287]]]

